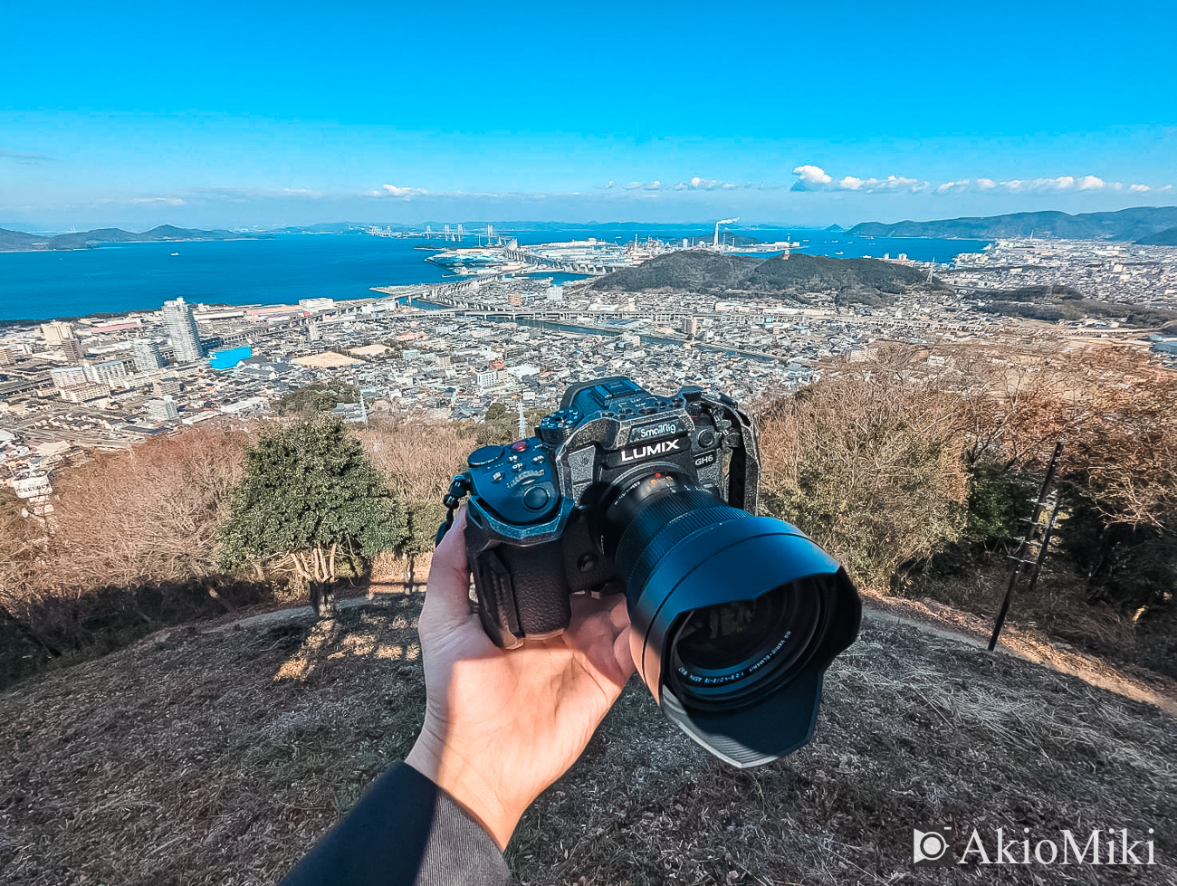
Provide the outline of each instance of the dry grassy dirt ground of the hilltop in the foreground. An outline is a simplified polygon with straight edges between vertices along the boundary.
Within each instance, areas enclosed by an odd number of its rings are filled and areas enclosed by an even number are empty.
[[[410,748],[420,600],[161,632],[0,694],[0,882],[273,882]],[[973,827],[1151,827],[1158,864],[913,867],[912,828],[940,824],[958,855]],[[873,614],[829,672],[813,742],[757,770],[712,758],[632,681],[507,859],[536,886],[1177,884],[1177,728]]]

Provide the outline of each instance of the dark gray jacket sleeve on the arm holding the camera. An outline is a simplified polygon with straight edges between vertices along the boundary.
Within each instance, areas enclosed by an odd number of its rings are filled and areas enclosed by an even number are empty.
[[[398,764],[281,881],[281,886],[506,886],[503,853],[466,812]]]

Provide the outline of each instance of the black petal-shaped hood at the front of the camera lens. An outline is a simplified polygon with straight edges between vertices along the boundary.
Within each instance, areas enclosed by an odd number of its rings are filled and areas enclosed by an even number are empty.
[[[636,569],[638,580],[626,585],[631,651],[669,719],[727,762],[758,766],[812,738],[825,668],[857,638],[862,602],[845,571],[797,527],[746,513],[742,519],[714,515],[719,521],[696,524],[687,534],[664,526],[673,538],[669,546],[651,539],[660,557]],[[800,599],[816,624],[797,632],[798,647],[782,655],[774,672],[757,675],[757,691],[742,693],[737,685],[730,698],[694,698],[672,664],[684,620],[765,594]],[[789,637],[783,633],[783,641]],[[767,658],[764,662],[765,672],[773,667]]]

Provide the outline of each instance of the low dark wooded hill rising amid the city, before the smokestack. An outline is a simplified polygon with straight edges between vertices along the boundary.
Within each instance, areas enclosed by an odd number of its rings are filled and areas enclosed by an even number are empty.
[[[684,251],[659,255],[644,265],[620,268],[591,286],[601,291],[678,289],[712,295],[807,301],[807,294],[833,292],[844,301],[870,304],[916,286],[927,286],[923,271],[877,259],[833,259],[793,253],[790,258],[753,259],[714,252]],[[938,280],[931,284],[943,286]]]

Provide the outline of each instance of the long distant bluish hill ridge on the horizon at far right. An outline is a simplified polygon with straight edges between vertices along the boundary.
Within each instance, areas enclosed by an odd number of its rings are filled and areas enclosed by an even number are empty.
[[[1138,206],[1118,212],[1018,212],[1010,215],[938,221],[864,221],[858,237],[945,237],[991,240],[998,237],[1059,237],[1075,240],[1144,240],[1177,227],[1177,206]]]

